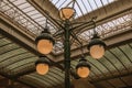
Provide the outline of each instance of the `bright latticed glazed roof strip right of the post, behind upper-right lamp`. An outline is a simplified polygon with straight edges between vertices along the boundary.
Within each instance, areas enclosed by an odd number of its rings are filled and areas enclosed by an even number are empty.
[[[132,13],[129,13],[121,18],[114,19],[110,22],[96,26],[96,31],[99,33],[101,37],[105,37],[107,35],[117,33],[119,31],[130,29],[131,22],[132,22]],[[92,34],[94,34],[94,29],[90,29],[81,33],[79,36],[88,41]]]

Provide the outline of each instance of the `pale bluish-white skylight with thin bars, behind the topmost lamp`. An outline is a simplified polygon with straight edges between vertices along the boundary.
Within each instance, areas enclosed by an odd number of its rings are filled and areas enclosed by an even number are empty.
[[[51,0],[51,2],[55,4],[57,9],[62,9],[64,7],[72,7],[73,1],[74,0]],[[76,10],[75,18],[89,13],[113,1],[114,0],[75,0],[75,6],[74,6],[74,9]]]

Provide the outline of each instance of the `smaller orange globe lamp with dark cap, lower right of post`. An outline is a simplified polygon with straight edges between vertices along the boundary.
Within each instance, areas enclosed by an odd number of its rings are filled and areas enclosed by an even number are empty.
[[[79,64],[76,66],[76,72],[79,77],[86,78],[90,73],[90,65],[86,59],[80,59]]]

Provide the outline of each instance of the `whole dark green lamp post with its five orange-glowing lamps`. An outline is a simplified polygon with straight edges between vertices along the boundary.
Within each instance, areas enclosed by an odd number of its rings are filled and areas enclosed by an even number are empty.
[[[74,3],[76,0],[73,0]],[[76,41],[80,43],[80,41],[77,38],[76,34],[74,33],[74,29],[79,28],[81,25],[85,25],[87,23],[90,23],[91,25],[92,21],[89,22],[81,22],[80,24],[77,24],[73,28],[70,23],[70,19],[75,15],[74,8],[63,8],[59,11],[59,18],[63,20],[63,23],[57,23],[61,29],[64,30],[64,70],[65,70],[65,88],[70,88],[70,36],[73,36]],[[55,20],[55,19],[54,19]],[[50,54],[52,52],[53,45],[55,41],[53,40],[51,33],[48,32],[48,29],[44,29],[44,31],[38,35],[35,40],[37,51],[41,54]],[[80,43],[81,44],[81,43]],[[82,46],[82,45],[81,45]],[[91,42],[88,44],[88,50],[90,52],[90,55],[94,58],[100,58],[105,54],[105,46],[106,44],[97,37],[97,35],[94,35],[94,38],[91,38]],[[46,61],[40,59],[41,62],[36,62],[36,70],[40,74],[46,74],[48,72],[48,63]],[[38,66],[40,65],[40,66]],[[38,67],[37,67],[38,66]],[[45,68],[44,68],[45,67]],[[44,70],[46,69],[46,70]],[[82,57],[79,61],[79,64],[76,66],[77,75],[81,78],[88,77],[90,73],[90,65],[88,62]]]

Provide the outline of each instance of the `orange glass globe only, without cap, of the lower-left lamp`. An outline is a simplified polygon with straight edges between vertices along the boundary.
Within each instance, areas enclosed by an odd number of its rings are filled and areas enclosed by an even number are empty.
[[[40,75],[45,75],[48,72],[48,65],[47,64],[37,64],[36,65],[36,72]]]

